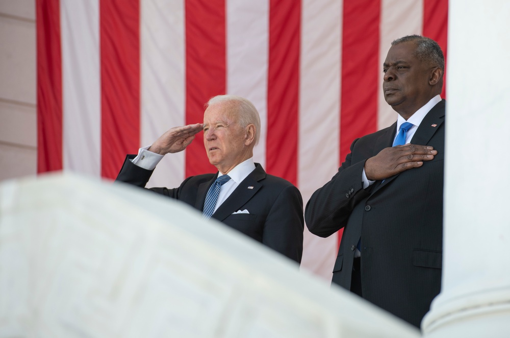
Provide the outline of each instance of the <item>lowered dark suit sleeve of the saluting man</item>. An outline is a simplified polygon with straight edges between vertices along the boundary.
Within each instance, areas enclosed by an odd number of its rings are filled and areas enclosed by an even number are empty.
[[[303,199],[289,185],[274,201],[264,224],[262,243],[296,262],[303,254]]]

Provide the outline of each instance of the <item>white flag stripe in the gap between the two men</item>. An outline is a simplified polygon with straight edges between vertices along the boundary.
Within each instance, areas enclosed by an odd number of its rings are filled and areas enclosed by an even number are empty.
[[[306,205],[338,170],[342,4],[302,2],[298,187]],[[301,267],[331,279],[338,236],[304,233]]]

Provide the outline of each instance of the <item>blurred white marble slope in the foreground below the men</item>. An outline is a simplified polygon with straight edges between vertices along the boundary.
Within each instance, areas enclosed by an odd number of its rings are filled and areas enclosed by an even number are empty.
[[[420,337],[191,206],[127,184],[1,182],[0,229],[0,338]]]

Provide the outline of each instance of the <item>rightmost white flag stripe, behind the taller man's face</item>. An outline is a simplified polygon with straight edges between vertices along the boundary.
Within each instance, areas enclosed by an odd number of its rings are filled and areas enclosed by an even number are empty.
[[[421,34],[423,1],[382,0],[380,18],[377,129],[391,126],[397,120],[397,113],[386,103],[382,94],[382,64],[393,40],[405,35]]]

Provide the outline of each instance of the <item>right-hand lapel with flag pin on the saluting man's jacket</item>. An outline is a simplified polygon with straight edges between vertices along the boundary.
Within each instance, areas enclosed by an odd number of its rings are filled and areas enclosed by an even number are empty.
[[[241,182],[232,194],[223,202],[212,217],[223,221],[232,213],[238,211],[246,204],[262,187],[260,180],[266,177],[266,172],[259,163],[255,169]]]

